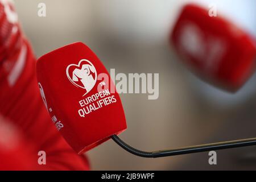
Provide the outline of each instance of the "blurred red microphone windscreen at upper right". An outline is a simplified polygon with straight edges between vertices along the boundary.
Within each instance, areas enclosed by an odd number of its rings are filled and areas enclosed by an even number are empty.
[[[200,6],[184,6],[170,39],[185,64],[223,89],[238,90],[255,71],[255,39]]]

